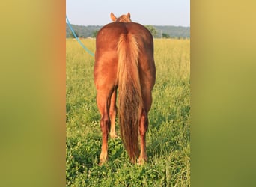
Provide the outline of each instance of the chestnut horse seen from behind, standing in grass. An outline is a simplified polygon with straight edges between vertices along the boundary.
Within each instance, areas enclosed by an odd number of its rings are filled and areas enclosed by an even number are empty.
[[[116,138],[115,117],[118,89],[118,118],[121,138],[132,163],[147,161],[147,114],[156,79],[153,37],[144,26],[131,22],[130,14],[105,25],[96,37],[94,83],[103,133],[100,165],[108,158],[108,134]],[[140,154],[138,157],[138,132]]]

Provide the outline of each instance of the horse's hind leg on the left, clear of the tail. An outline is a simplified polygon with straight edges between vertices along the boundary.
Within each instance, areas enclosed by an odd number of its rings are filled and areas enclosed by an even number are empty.
[[[108,134],[109,134],[109,96],[108,94],[98,91],[97,92],[97,106],[100,111],[100,128],[103,133],[102,147],[100,153],[100,165],[102,165],[108,159]]]

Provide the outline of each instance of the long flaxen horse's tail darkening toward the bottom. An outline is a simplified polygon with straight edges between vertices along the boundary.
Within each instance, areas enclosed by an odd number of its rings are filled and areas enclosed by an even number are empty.
[[[143,108],[138,53],[135,37],[121,34],[118,42],[118,117],[121,138],[132,162],[138,156],[138,124]]]

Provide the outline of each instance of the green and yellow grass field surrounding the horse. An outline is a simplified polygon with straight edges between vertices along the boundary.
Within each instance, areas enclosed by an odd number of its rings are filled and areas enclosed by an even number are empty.
[[[94,52],[95,40],[82,43]],[[156,85],[147,131],[149,160],[142,166],[131,164],[121,139],[109,138],[109,161],[99,166],[94,58],[76,40],[67,39],[67,186],[190,186],[190,40],[156,39],[154,48]]]

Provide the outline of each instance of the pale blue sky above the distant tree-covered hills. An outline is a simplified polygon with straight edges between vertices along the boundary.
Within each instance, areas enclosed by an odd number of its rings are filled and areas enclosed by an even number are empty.
[[[131,14],[142,25],[190,26],[190,0],[66,0],[66,15],[74,25],[106,25],[115,16]]]

